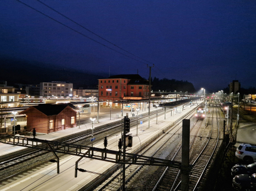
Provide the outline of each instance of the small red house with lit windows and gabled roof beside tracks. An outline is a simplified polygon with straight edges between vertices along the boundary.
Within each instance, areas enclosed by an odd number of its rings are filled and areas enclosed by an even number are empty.
[[[27,130],[36,128],[37,133],[48,134],[76,127],[76,113],[72,104],[40,104],[19,114],[27,115]]]

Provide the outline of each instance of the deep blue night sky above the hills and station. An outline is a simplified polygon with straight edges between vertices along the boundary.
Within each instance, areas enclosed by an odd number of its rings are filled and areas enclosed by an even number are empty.
[[[0,1],[0,56],[94,73],[187,80],[218,91],[230,81],[255,87],[256,1],[21,0],[126,57],[15,0]]]

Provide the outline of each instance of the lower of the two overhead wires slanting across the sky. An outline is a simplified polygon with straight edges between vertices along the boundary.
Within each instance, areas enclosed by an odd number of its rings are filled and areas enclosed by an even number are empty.
[[[132,57],[130,57],[130,56],[128,56],[128,55],[126,55],[126,54],[124,54],[124,53],[122,53],[122,52],[119,52],[119,51],[117,51],[117,50],[115,50],[115,49],[112,49],[111,47],[109,47],[109,46],[107,46],[107,45],[104,45],[104,44],[100,43],[100,42],[97,41],[97,40],[94,40],[94,39],[88,37],[87,35],[85,35],[85,34],[79,32],[79,31],[77,31],[76,29],[73,29],[73,28],[71,28],[71,27],[65,25],[64,23],[62,23],[62,22],[60,22],[60,21],[58,21],[58,20],[56,20],[56,19],[53,19],[53,17],[50,17],[49,15],[42,13],[41,11],[37,10],[36,8],[33,8],[33,7],[31,7],[30,5],[28,5],[28,4],[24,3],[24,2],[21,2],[20,0],[16,0],[16,1],[20,2],[21,4],[26,5],[27,7],[29,7],[29,8],[31,8],[31,9],[37,11],[38,13],[40,13],[40,14],[42,14],[42,15],[48,17],[49,19],[52,19],[53,21],[58,22],[60,25],[63,25],[63,26],[65,26],[65,27],[71,29],[72,31],[75,31],[75,32],[78,33],[78,34],[81,34],[81,35],[83,35],[84,37],[86,37],[86,38],[88,38],[88,39],[90,39],[90,40],[95,41],[95,43],[98,43],[98,44],[100,44],[100,45],[103,45],[103,46],[107,47],[108,49],[113,50],[113,51],[115,51],[115,52],[117,52],[117,53],[120,53],[121,55],[126,56],[126,57],[128,57],[128,58],[134,59],[135,61],[138,61],[138,62],[147,64],[147,63],[145,63],[145,62],[139,61],[138,59],[132,58]]]

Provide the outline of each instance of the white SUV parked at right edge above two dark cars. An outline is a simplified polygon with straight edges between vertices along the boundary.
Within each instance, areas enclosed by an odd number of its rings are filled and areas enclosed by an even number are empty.
[[[250,144],[240,144],[235,153],[236,157],[248,163],[256,162],[256,146]]]

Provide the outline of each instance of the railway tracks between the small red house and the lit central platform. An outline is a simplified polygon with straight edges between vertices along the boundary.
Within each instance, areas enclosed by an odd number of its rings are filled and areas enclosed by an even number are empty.
[[[159,115],[163,115],[164,111],[151,111],[151,119],[155,118],[158,113]],[[147,121],[148,114],[143,115],[143,120]],[[130,117],[130,126],[133,126],[136,124],[136,117]],[[122,125],[121,120],[108,123],[104,126],[97,127],[94,129],[94,135],[97,137],[99,141],[101,141],[101,138],[104,138],[104,136],[115,134],[117,131],[120,131],[120,127]],[[75,143],[75,144],[81,144],[81,145],[89,145],[90,144],[90,136],[91,132],[90,130],[86,130],[80,133],[77,133],[76,135],[71,135],[66,139],[61,139],[62,142],[67,143]],[[22,173],[26,175],[26,171],[34,171],[38,170],[38,168],[43,168],[49,164],[52,164],[49,162],[50,159],[53,159],[54,156],[52,153],[47,151],[33,151],[31,150],[29,153],[27,152],[21,152],[19,156],[13,156],[14,158],[9,159],[5,158],[3,162],[0,163],[0,187],[4,186],[10,182],[13,182],[16,180],[17,177],[22,177]],[[60,155],[59,157],[67,157]],[[61,159],[60,158],[60,159]],[[24,165],[24,163],[26,163]],[[27,165],[29,163],[29,165]]]

